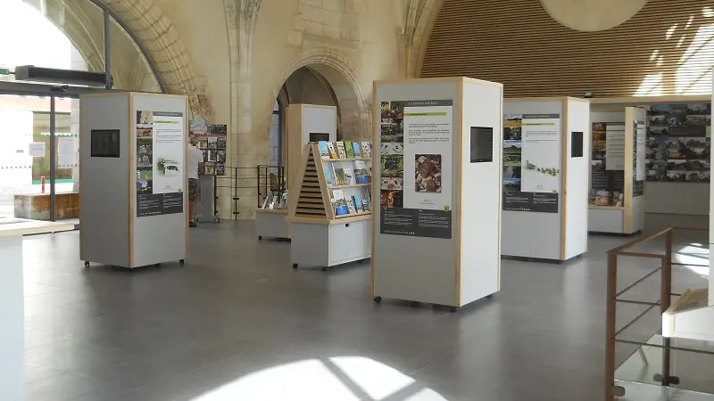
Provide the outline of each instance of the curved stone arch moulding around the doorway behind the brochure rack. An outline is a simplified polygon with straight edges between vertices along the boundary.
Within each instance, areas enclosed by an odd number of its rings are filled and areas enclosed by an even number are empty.
[[[357,74],[347,58],[332,49],[312,49],[302,53],[284,70],[272,89],[270,106],[287,78],[298,69],[307,67],[327,80],[336,96],[339,110],[340,127],[337,127],[344,139],[363,138],[369,135],[369,107],[357,83]],[[266,119],[268,118],[266,114]]]

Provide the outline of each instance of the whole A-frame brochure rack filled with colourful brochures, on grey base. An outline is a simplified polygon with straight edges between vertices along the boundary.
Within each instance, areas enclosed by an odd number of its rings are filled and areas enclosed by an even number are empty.
[[[293,267],[342,265],[369,258],[371,143],[308,143],[291,191]]]

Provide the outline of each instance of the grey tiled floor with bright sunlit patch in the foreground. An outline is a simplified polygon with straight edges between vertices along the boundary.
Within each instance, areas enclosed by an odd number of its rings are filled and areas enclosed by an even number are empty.
[[[29,400],[602,400],[604,250],[628,240],[591,236],[562,266],[504,260],[502,291],[452,314],[373,303],[369,263],[294,271],[290,244],[250,222],[191,234],[186,266],[134,273],[83,269],[79,233],[26,237]],[[621,288],[653,265],[622,266]]]

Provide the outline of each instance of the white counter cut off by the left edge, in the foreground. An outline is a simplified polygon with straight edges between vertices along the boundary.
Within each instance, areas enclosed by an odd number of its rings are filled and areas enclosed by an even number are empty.
[[[25,399],[22,235],[71,231],[73,224],[0,218],[0,399]]]

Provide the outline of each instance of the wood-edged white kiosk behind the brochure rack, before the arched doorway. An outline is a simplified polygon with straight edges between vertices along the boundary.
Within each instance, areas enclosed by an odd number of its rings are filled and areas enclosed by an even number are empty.
[[[320,104],[295,103],[287,106],[286,183],[293,184],[303,168],[303,147],[306,143],[337,140],[337,108]]]

